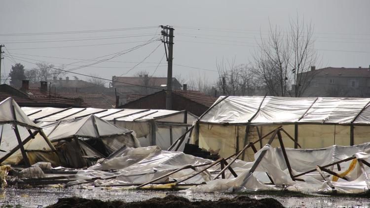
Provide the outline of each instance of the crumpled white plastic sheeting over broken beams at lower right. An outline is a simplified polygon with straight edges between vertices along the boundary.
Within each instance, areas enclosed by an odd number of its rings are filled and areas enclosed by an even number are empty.
[[[348,181],[339,178],[338,181],[331,181],[333,184],[332,188],[330,184],[325,181],[318,172],[308,173],[298,178],[304,181],[293,181],[287,170],[285,160],[282,156],[281,148],[272,148],[266,144],[260,149],[255,158],[262,151],[266,150],[266,154],[259,163],[256,172],[250,174],[252,163],[247,163],[243,166],[246,168],[243,174],[238,175],[236,178],[228,179],[216,179],[208,181],[205,185],[199,185],[197,187],[186,190],[192,193],[202,192],[231,192],[231,191],[261,191],[261,190],[281,190],[284,186],[290,191],[298,191],[302,193],[333,193],[335,190],[337,193],[353,194],[353,193],[364,193],[369,191],[370,181],[365,179],[364,174],[369,175],[370,168],[365,166],[366,172],[363,173],[360,170],[359,165],[354,168],[350,168],[352,161],[340,163],[341,171],[337,169],[337,166],[331,166],[330,170],[335,173],[345,173],[344,176]],[[369,161],[370,157],[370,143],[357,146],[331,146],[325,149],[286,149],[289,162],[292,166],[292,172],[294,175],[303,173],[308,170],[315,169],[316,166],[324,166],[330,163],[343,160],[355,155],[355,159],[359,158]],[[266,185],[266,177],[260,173],[268,173],[274,181],[275,185]],[[324,177],[329,180],[333,180],[333,175],[325,173]]]

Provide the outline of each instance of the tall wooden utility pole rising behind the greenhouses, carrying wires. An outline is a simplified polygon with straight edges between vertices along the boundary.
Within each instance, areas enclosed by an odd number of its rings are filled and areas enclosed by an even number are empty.
[[[174,46],[174,28],[170,26],[161,26],[163,29],[161,34],[163,35],[162,42],[164,43],[164,49],[166,51],[167,58],[167,91],[166,91],[166,109],[172,109],[172,60],[173,60],[173,46]],[[168,55],[167,55],[168,49]]]

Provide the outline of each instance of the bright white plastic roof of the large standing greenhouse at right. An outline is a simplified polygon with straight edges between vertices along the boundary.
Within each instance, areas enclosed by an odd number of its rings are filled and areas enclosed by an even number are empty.
[[[220,97],[215,103],[223,98]],[[370,98],[265,97],[263,102],[262,100],[263,97],[260,96],[229,96],[215,105],[200,121],[230,124],[247,122],[370,124],[368,109]]]

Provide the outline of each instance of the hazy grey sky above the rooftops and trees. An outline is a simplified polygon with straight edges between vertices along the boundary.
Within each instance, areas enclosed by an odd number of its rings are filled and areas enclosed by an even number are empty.
[[[4,55],[13,56],[2,60],[1,73],[9,73],[13,61],[26,69],[40,61],[70,64],[65,69],[84,66],[96,62],[84,60],[111,58],[150,38],[158,39],[156,26],[171,25],[175,28],[174,75],[213,81],[217,60],[236,58],[237,64],[248,63],[269,21],[284,29],[296,15],[314,25],[315,47],[322,59],[318,67],[369,67],[369,9],[370,0],[1,0],[0,44],[8,50],[3,50]],[[159,44],[153,41],[109,62],[73,71],[108,79],[141,70],[166,76],[165,58],[156,69],[164,55],[163,44],[154,50]]]

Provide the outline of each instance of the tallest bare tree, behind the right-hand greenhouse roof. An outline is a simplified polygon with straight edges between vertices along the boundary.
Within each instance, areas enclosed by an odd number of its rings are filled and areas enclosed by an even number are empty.
[[[260,39],[259,51],[254,54],[254,68],[259,80],[273,96],[301,97],[309,87],[317,62],[313,27],[290,19],[287,31],[273,27],[267,38]]]

